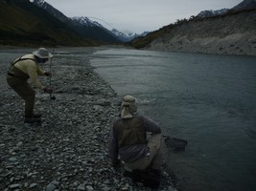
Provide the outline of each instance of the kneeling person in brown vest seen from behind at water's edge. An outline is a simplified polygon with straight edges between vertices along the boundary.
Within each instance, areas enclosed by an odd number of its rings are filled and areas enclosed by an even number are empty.
[[[110,129],[108,156],[113,165],[120,163],[120,157],[126,174],[131,175],[133,180],[157,187],[161,175],[161,132],[160,127],[149,117],[137,114],[133,96],[124,96],[121,115],[115,118]]]

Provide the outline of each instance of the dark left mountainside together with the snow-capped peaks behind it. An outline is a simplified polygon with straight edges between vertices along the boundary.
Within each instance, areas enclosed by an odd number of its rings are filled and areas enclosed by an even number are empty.
[[[0,0],[0,44],[97,46],[136,37],[108,31],[87,17],[69,18],[43,0]]]

